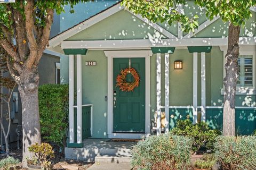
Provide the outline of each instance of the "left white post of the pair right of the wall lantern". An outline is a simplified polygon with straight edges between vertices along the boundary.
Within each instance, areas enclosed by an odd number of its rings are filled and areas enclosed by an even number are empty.
[[[193,53],[193,123],[197,123],[197,53]]]

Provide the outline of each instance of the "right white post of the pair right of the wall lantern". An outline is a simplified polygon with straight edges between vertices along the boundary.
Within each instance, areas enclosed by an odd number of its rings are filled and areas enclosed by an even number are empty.
[[[201,53],[201,121],[205,122],[205,105],[206,105],[206,91],[205,91],[205,53]]]

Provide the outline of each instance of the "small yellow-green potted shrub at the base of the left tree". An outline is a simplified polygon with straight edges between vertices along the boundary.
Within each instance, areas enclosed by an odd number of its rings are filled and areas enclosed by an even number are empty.
[[[49,143],[38,143],[28,147],[28,150],[35,154],[32,158],[27,158],[28,169],[52,169],[51,158],[54,158],[54,151]]]

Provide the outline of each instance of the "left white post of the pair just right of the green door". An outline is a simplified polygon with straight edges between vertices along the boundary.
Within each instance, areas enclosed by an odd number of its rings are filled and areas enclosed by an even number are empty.
[[[156,134],[161,134],[161,54],[156,54]]]

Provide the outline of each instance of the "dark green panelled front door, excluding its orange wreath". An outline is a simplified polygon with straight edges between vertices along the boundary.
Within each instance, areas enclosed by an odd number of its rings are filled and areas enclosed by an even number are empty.
[[[129,58],[114,58],[114,132],[145,132],[145,58],[131,58],[131,67],[139,74],[139,87],[133,91],[121,91],[116,87],[116,77],[129,67]],[[133,76],[127,74],[126,81]]]

